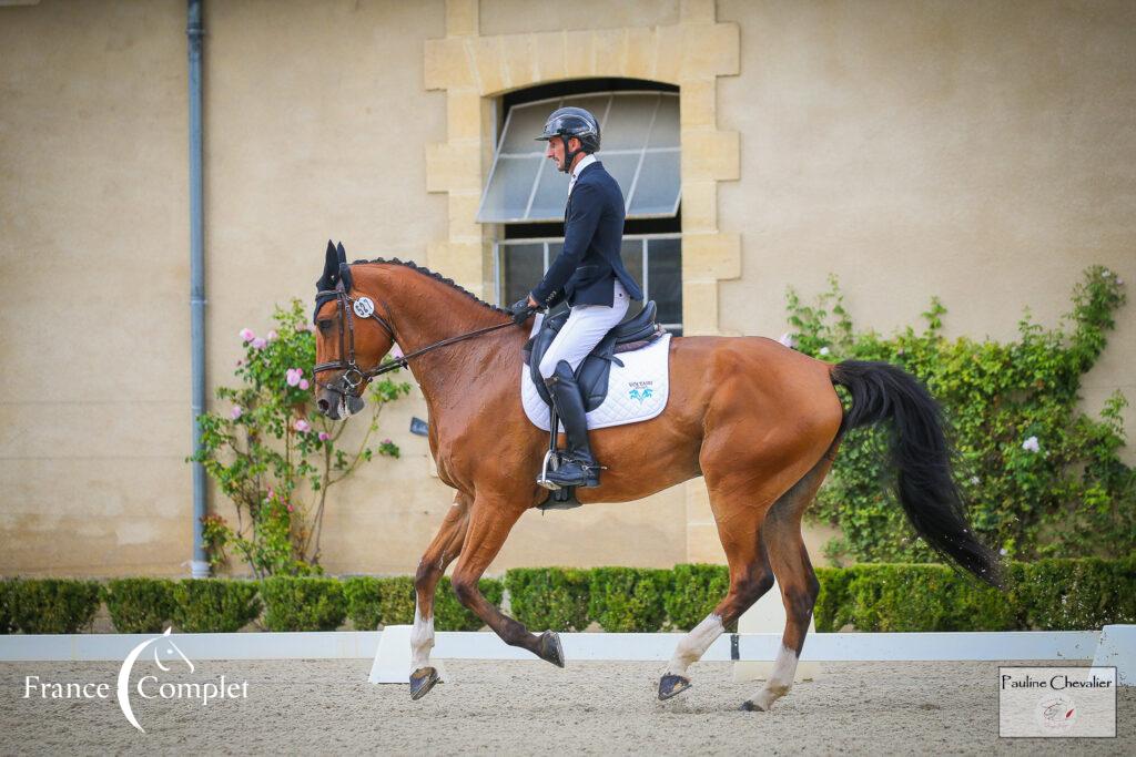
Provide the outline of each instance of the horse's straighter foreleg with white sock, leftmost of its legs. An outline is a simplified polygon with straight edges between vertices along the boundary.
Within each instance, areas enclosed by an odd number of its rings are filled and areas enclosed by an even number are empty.
[[[453,496],[453,506],[445,514],[442,528],[426,548],[415,572],[415,628],[410,632],[410,697],[426,696],[437,683],[437,671],[429,664],[434,648],[434,594],[446,565],[461,553],[469,527],[469,497]]]

